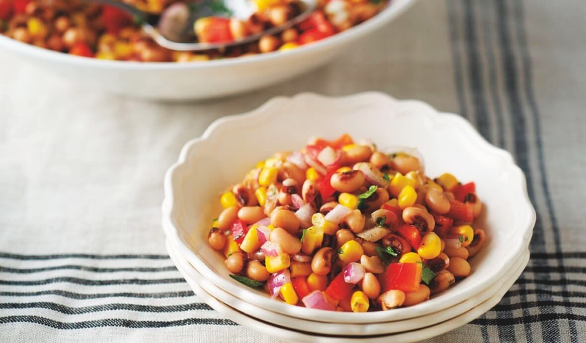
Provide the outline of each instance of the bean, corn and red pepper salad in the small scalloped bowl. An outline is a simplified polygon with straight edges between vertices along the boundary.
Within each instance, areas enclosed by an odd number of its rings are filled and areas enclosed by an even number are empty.
[[[288,304],[366,312],[413,306],[470,274],[485,242],[475,183],[431,179],[416,150],[349,135],[258,162],[220,196],[209,245],[233,279]]]

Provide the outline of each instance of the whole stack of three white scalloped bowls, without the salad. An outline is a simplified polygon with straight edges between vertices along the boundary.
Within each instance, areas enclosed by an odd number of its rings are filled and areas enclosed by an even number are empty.
[[[369,313],[291,306],[228,277],[224,256],[207,245],[209,223],[221,210],[218,194],[277,150],[299,149],[310,136],[345,132],[373,139],[383,151],[416,147],[426,174],[449,171],[475,181],[484,208],[473,226],[485,229],[487,240],[469,259],[470,276],[424,303]],[[522,273],[534,222],[524,175],[509,153],[486,142],[460,116],[372,92],[276,98],[249,114],[219,119],[185,145],[165,177],[163,228],[183,277],[226,318],[288,341],[410,342],[469,323],[495,306]]]

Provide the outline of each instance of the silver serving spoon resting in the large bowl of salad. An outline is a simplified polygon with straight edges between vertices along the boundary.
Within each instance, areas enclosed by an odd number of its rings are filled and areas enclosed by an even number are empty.
[[[254,42],[264,35],[275,35],[302,22],[317,8],[316,0],[299,0],[299,15],[289,19],[283,25],[274,26],[254,35],[242,37],[231,42],[199,43],[193,32],[195,20],[207,16],[232,16],[241,20],[248,19],[254,12],[255,6],[247,0],[203,0],[191,4],[177,3],[169,6],[163,13],[154,14],[141,11],[133,6],[115,0],[86,0],[100,2],[122,9],[142,24],[146,32],[157,44],[170,50],[201,51],[221,47],[236,46]],[[161,25],[164,23],[165,25]]]

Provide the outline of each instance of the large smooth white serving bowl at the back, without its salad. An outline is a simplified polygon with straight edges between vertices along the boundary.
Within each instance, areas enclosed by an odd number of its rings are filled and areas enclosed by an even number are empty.
[[[278,83],[321,66],[403,13],[414,0],[392,0],[378,15],[322,41],[286,52],[195,63],[88,59],[40,49],[0,35],[0,50],[98,90],[154,100],[196,100]]]

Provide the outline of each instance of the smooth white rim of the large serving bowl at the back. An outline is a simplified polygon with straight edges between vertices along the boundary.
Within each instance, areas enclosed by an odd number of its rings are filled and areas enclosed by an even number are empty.
[[[338,46],[349,40],[354,40],[366,33],[372,32],[390,22],[398,15],[410,8],[416,0],[390,0],[389,5],[359,25],[353,26],[347,30],[336,33],[331,37],[319,40],[318,42],[306,44],[297,49],[287,50],[284,52],[271,52],[264,54],[257,54],[249,57],[235,57],[229,59],[209,60],[205,62],[193,63],[178,63],[178,62],[138,62],[138,61],[112,61],[101,60],[96,58],[74,56],[68,53],[55,52],[53,50],[34,46],[19,42],[18,40],[0,35],[0,46],[4,46],[7,50],[14,50],[17,53],[26,54],[30,56],[40,57],[45,60],[50,60],[59,63],[77,64],[86,67],[100,67],[100,68],[115,68],[115,69],[131,69],[131,70],[182,70],[182,69],[201,69],[213,67],[236,66],[239,64],[253,64],[264,61],[272,61],[284,56],[294,56],[296,54],[304,54],[312,50],[323,50],[330,46]]]

